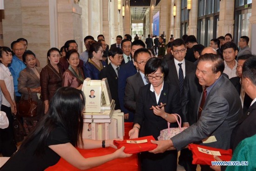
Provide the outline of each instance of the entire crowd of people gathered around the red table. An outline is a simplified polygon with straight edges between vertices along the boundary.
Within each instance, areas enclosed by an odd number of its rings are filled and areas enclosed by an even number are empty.
[[[140,155],[142,171],[176,171],[180,150],[179,165],[195,171],[192,153],[183,149],[189,143],[235,150],[243,139],[256,133],[256,58],[247,36],[242,36],[237,46],[228,33],[211,39],[209,47],[197,44],[194,35],[172,35],[167,44],[163,35],[148,34],[145,43],[140,38],[132,41],[129,34],[124,39],[118,35],[110,46],[104,35],[98,35],[97,40],[86,36],[86,50],[81,54],[75,40],[68,40],[61,50],[49,49],[43,68],[27,44],[25,38],[19,38],[11,49],[0,47],[1,111],[9,120],[9,127],[0,129],[3,156],[10,157],[17,150],[12,126],[16,104],[21,97],[28,99],[28,91],[38,103],[36,117],[21,118],[27,138],[3,171],[18,166],[26,170],[25,158],[17,162],[24,155],[34,159],[35,170],[39,156],[52,155],[53,159],[41,165],[41,170],[57,163],[60,156],[81,169],[130,156],[122,148],[97,160],[84,159],[75,150],[98,148],[101,143],[103,147],[103,141],[81,138],[85,104],[81,89],[87,77],[108,79],[115,109],[121,109],[126,122],[134,123],[130,138],[153,135],[157,139],[168,122],[177,127],[172,114],[181,115],[183,127],[188,128],[170,140],[153,141],[157,148]],[[159,107],[163,103],[166,106]],[[56,139],[49,138],[57,134]],[[106,143],[115,147],[111,140]],[[176,150],[168,151],[170,147]],[[67,151],[79,159],[67,156]],[[201,169],[211,168],[201,165]]]

